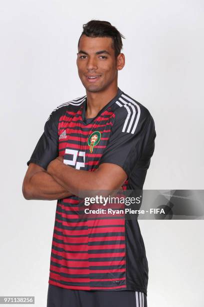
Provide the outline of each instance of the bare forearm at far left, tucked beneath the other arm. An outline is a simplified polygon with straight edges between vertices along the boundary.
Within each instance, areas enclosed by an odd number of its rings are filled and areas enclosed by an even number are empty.
[[[72,195],[46,171],[37,172],[29,180],[23,182],[22,193],[28,200],[57,200]]]

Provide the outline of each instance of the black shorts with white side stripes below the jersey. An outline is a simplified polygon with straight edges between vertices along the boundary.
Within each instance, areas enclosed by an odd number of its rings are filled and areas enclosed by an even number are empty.
[[[147,307],[146,295],[135,291],[70,290],[48,285],[47,307]]]

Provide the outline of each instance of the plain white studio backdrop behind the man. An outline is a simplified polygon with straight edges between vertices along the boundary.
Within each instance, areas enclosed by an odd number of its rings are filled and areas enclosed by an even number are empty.
[[[26,161],[49,113],[82,96],[77,41],[90,19],[125,37],[121,90],[157,132],[144,189],[203,189],[203,12],[200,0],[2,0],[0,5],[0,295],[46,305],[56,202],[26,201]],[[202,220],[140,221],[148,307],[203,306]]]

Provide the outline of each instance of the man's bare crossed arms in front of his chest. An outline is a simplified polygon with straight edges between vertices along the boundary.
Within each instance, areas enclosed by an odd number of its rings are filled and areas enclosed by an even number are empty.
[[[63,164],[63,158],[51,161],[45,171],[30,163],[25,174],[22,193],[25,199],[57,200],[81,190],[117,190],[127,175],[115,164],[103,163],[94,172],[73,169]]]

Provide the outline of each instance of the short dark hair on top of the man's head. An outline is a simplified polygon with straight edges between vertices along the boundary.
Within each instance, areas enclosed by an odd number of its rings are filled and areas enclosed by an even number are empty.
[[[109,22],[106,21],[100,21],[100,20],[91,20],[87,24],[83,25],[83,31],[81,33],[82,35],[86,35],[88,37],[110,37],[112,38],[113,46],[112,48],[115,51],[115,57],[120,54],[120,51],[122,49],[122,38],[125,37],[119,33],[119,31],[113,27]],[[78,40],[78,46],[79,41]]]

